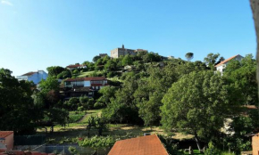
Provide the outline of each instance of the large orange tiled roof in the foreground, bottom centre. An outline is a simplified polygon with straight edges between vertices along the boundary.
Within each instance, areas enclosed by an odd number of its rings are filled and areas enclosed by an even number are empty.
[[[168,155],[157,135],[118,141],[108,155]]]

